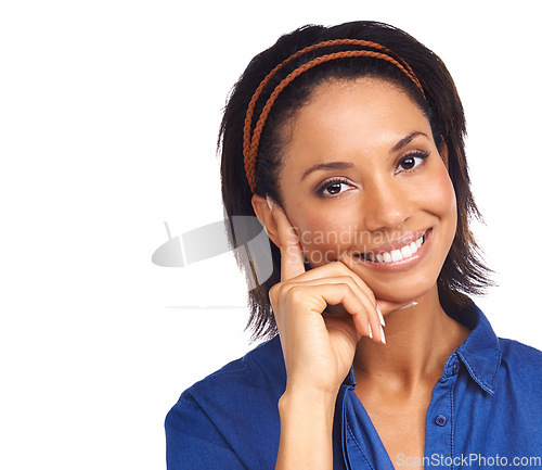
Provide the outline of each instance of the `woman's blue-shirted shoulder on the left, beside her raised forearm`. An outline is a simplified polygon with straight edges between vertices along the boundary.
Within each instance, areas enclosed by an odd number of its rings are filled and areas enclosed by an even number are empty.
[[[181,457],[201,461],[205,454],[224,465],[228,458],[247,468],[267,468],[261,462],[274,462],[276,456],[278,404],[285,385],[278,336],[196,382],[166,417],[168,462]]]

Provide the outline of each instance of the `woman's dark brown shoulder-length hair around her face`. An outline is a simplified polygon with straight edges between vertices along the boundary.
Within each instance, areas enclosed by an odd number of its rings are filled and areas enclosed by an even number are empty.
[[[309,46],[336,39],[361,39],[376,42],[393,51],[406,64],[422,85],[422,90],[402,71],[389,61],[372,56],[347,56],[322,63],[296,77],[285,87],[273,104],[259,141],[255,170],[255,193],[270,196],[282,205],[278,180],[284,145],[282,125],[308,102],[311,92],[332,78],[356,79],[379,77],[400,86],[420,106],[431,126],[437,145],[446,142],[449,154],[449,174],[457,200],[457,229],[452,246],[438,278],[440,303],[444,310],[470,303],[465,294],[479,294],[491,284],[491,272],[479,256],[478,246],[469,230],[470,217],[480,214],[470,192],[470,179],[465,158],[465,116],[455,85],[442,61],[412,36],[390,25],[375,22],[352,22],[338,26],[305,26],[282,36],[274,46],[256,55],[233,88],[220,127],[222,200],[230,220],[234,216],[253,216],[253,191],[245,175],[243,134],[247,109],[253,94],[266,76],[281,62]],[[269,79],[254,109],[255,119],[274,88],[304,64],[323,55],[351,50],[356,46],[330,46],[310,50],[288,61]],[[424,96],[425,94],[425,96]],[[254,123],[253,120],[253,129]],[[235,249],[235,233],[228,226],[230,245]],[[236,254],[237,264],[248,279],[258,271],[258,261]],[[281,254],[271,243],[273,274],[248,293],[250,317],[248,326],[253,338],[276,333],[270,288],[280,281]]]

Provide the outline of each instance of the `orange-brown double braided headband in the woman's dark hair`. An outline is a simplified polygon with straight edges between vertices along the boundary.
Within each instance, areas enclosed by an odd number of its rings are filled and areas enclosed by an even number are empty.
[[[376,51],[367,51],[367,50],[349,50],[349,51],[344,51],[344,52],[335,52],[326,55],[321,55],[320,58],[313,59],[310,62],[307,62],[306,64],[301,65],[300,67],[296,68],[294,72],[292,72],[286,78],[284,78],[273,90],[271,96],[269,97],[268,101],[266,102],[266,105],[263,106],[263,110],[261,111],[260,117],[258,118],[258,122],[256,123],[256,127],[254,128],[253,136],[250,138],[250,127],[253,125],[253,116],[254,116],[254,111],[256,107],[256,102],[258,101],[258,98],[260,97],[261,92],[263,91],[263,88],[269,82],[269,80],[273,77],[273,75],[276,74],[284,65],[286,65],[288,62],[292,62],[294,59],[310,52],[314,49],[320,49],[320,48],[325,48],[328,46],[363,46],[363,47],[370,47],[373,49],[377,49],[380,52]],[[393,54],[397,59],[393,59],[389,54]],[[250,189],[253,193],[256,190],[256,158],[258,156],[258,147],[260,143],[260,138],[261,138],[261,132],[263,130],[263,125],[266,124],[266,119],[269,116],[269,113],[271,111],[271,107],[273,106],[274,102],[279,98],[279,94],[286,88],[287,85],[289,85],[296,77],[301,75],[304,72],[307,72],[308,69],[320,65],[324,62],[330,62],[335,59],[345,59],[345,58],[359,58],[359,56],[366,56],[366,58],[376,58],[376,59],[382,59],[384,61],[390,62],[393,65],[396,65],[401,72],[403,72],[413,82],[414,85],[422,91],[422,94],[425,98],[424,89],[422,85],[420,84],[420,80],[415,76],[414,72],[412,68],[409,66],[409,64],[403,61],[401,58],[399,58],[396,53],[393,53],[391,50],[388,48],[385,48],[382,45],[378,45],[376,42],[371,42],[371,41],[365,41],[362,39],[335,39],[331,41],[323,41],[319,42],[317,45],[309,46],[307,48],[301,49],[300,51],[297,51],[293,55],[291,55],[288,59],[285,61],[281,62],[276,67],[274,67],[267,76],[263,78],[263,80],[260,82],[258,88],[256,89],[250,102],[248,103],[248,109],[246,112],[246,117],[245,117],[245,126],[243,129],[243,156],[244,156],[244,162],[245,162],[245,172],[246,172],[246,177],[248,179],[248,185],[250,186]],[[398,62],[401,61],[401,63]]]

